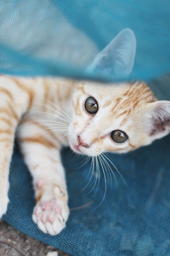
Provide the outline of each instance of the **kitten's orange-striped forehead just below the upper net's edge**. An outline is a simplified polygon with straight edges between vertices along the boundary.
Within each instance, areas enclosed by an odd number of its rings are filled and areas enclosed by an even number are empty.
[[[82,82],[77,87],[78,99],[94,97],[99,107],[109,108],[119,116],[130,112],[143,103],[155,101],[155,96],[144,82],[102,84]]]

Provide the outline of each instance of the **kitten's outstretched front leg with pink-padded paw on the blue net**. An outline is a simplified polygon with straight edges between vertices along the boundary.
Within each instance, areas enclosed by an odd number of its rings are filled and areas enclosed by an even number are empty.
[[[55,235],[66,225],[68,194],[57,142],[53,137],[40,135],[40,129],[34,123],[23,126],[19,141],[33,177],[36,197],[33,220],[44,233]]]

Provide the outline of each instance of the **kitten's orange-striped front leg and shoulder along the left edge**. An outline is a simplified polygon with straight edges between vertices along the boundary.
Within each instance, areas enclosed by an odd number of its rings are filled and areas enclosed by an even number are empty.
[[[0,218],[6,213],[9,202],[8,176],[15,129],[28,103],[29,94],[25,90],[18,88],[12,79],[0,76]]]

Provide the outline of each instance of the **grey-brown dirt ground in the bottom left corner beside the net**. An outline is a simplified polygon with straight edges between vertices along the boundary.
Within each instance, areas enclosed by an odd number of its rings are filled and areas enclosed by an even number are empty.
[[[71,256],[0,221],[0,256]]]

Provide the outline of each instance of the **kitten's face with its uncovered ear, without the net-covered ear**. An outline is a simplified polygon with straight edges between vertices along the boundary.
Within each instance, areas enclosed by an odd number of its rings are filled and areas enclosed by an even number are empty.
[[[89,156],[126,153],[165,136],[169,119],[158,121],[163,101],[155,101],[145,83],[79,83],[69,127],[71,148]]]

